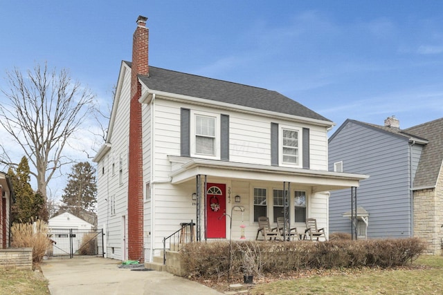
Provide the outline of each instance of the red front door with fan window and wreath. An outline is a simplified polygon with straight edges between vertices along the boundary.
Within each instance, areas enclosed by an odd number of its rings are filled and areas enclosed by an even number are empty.
[[[206,211],[208,217],[206,237],[226,238],[226,184],[208,183]]]

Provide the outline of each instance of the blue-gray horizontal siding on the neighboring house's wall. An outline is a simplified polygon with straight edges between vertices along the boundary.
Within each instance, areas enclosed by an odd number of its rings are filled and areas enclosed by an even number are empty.
[[[343,172],[370,175],[357,189],[357,205],[370,214],[368,238],[410,236],[409,144],[405,138],[347,122],[329,141],[329,170],[343,161]],[[351,191],[332,191],[329,233],[351,231]]]

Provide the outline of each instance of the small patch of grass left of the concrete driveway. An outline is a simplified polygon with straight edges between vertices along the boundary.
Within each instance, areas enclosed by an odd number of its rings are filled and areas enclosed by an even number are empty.
[[[3,294],[47,295],[48,281],[39,272],[0,269],[0,295]]]

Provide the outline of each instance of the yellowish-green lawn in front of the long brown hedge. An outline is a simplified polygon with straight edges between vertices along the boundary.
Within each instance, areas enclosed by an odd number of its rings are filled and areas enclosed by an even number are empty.
[[[422,256],[413,266],[278,280],[256,285],[251,294],[443,294],[442,256]]]

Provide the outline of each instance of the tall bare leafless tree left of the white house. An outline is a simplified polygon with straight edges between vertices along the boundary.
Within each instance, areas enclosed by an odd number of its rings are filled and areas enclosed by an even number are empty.
[[[8,90],[1,92],[10,104],[0,104],[0,124],[35,166],[30,174],[46,202],[46,187],[55,171],[71,161],[62,151],[93,107],[93,95],[69,71],[49,70],[37,64],[23,75],[19,68],[6,72]],[[7,159],[0,159],[1,164]]]

